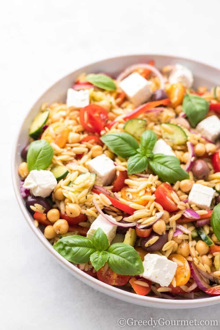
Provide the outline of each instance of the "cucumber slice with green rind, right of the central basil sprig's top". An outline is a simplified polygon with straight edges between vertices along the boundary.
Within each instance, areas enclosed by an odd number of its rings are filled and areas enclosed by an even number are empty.
[[[168,132],[164,129],[164,127],[161,125],[161,132],[163,139],[168,140],[173,145],[179,146],[182,144],[185,144],[187,141],[187,136],[184,130],[179,127],[178,125],[171,124],[171,123],[165,123],[170,130],[173,132]]]

